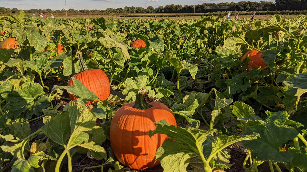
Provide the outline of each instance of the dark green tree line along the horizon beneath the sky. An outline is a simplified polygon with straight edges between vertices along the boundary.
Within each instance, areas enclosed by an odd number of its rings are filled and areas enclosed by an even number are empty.
[[[306,10],[307,0],[275,0],[273,2],[261,1],[241,1],[235,2],[221,2],[221,3],[203,3],[201,5],[166,5],[153,8],[148,6],[147,9],[143,7],[125,6],[124,8],[107,8],[107,9],[68,9],[67,13],[212,13],[220,11],[274,11],[274,10]],[[52,9],[23,9],[25,13],[65,13],[66,10],[52,10]],[[17,8],[0,7],[0,13],[19,13]]]

